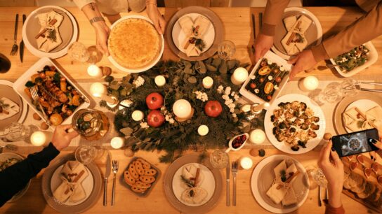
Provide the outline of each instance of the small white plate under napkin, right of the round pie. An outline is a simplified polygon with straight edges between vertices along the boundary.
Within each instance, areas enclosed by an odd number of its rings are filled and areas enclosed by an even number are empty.
[[[183,15],[182,17],[190,16],[192,21],[195,22],[195,20],[197,19],[199,15],[208,19],[207,17],[199,13],[188,13],[186,15]],[[176,48],[178,48],[181,52],[185,53],[185,49],[183,48],[183,42],[185,41],[187,35],[185,35],[183,30],[180,28],[180,24],[179,24],[179,20],[182,17],[180,17],[173,25],[172,37],[173,37],[173,43],[176,45]],[[202,36],[202,39],[206,43],[206,48],[204,48],[204,50],[201,53],[209,50],[209,48],[211,48],[213,44],[213,40],[215,39],[215,29],[213,28],[213,24],[211,23],[211,21],[209,24],[209,29],[206,30],[206,32]]]

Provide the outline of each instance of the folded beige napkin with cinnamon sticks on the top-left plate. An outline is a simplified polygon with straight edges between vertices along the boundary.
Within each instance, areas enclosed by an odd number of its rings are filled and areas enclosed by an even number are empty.
[[[39,32],[43,31],[44,29],[48,29],[45,34],[43,34],[44,36],[37,38],[37,45],[39,50],[50,52],[62,43],[58,27],[60,26],[64,17],[52,10],[48,13],[40,13],[37,15],[37,18],[39,19],[39,24],[41,25]],[[51,22],[53,19],[57,20],[57,22],[55,22],[53,25],[49,24],[49,22]]]

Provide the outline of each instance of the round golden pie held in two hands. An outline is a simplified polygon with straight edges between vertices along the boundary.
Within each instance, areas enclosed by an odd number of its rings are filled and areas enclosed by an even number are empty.
[[[140,69],[157,59],[161,38],[150,22],[130,18],[112,28],[107,45],[119,65],[126,69]]]

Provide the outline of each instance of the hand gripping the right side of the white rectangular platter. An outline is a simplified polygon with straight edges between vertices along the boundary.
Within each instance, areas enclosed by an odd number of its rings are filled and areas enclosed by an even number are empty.
[[[289,59],[288,63],[294,64],[294,67],[291,70],[291,74],[289,75],[289,78],[291,79],[293,79],[297,73],[312,69],[312,67],[317,64],[312,50],[304,50],[293,59]]]

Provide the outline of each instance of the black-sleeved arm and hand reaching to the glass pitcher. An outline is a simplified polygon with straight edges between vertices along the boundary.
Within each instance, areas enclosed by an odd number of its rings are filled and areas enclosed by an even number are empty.
[[[28,155],[26,159],[0,172],[0,206],[22,190],[30,179],[48,166],[49,162],[60,153],[60,150],[70,144],[72,138],[78,136],[75,131],[66,132],[70,127],[70,125],[56,127],[52,143],[49,143],[46,148],[41,152]]]

